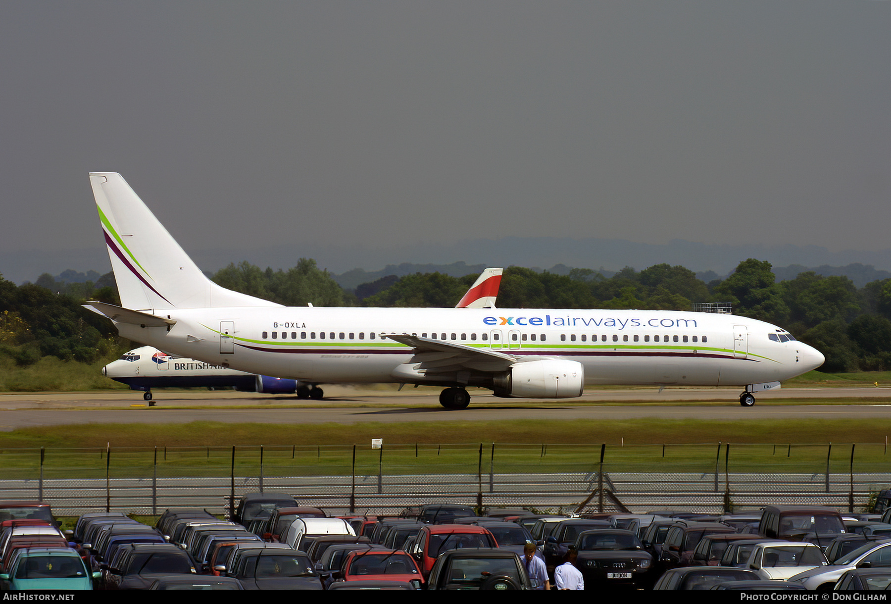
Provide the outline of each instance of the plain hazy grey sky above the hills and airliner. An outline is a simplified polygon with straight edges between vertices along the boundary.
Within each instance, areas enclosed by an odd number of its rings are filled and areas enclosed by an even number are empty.
[[[889,2],[6,0],[0,252],[101,247],[105,170],[187,250],[887,249],[889,32]]]

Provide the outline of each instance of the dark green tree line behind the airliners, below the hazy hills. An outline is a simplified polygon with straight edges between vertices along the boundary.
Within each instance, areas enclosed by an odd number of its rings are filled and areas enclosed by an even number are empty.
[[[344,290],[332,275],[300,258],[288,270],[231,264],[214,282],[284,306],[454,306],[477,274],[388,276]],[[118,304],[113,275],[96,282],[55,282],[48,274],[16,286],[0,276],[0,355],[33,363],[40,355],[93,362],[116,346],[110,322],[81,308],[85,299]],[[733,313],[771,322],[826,355],[822,371],[891,370],[891,279],[862,288],[844,276],[813,272],[776,282],[769,262],[749,258],[724,280],[703,282],[683,266],[625,267],[605,277],[574,268],[568,274],[511,266],[504,270],[497,306],[691,310],[697,303],[729,302]]]

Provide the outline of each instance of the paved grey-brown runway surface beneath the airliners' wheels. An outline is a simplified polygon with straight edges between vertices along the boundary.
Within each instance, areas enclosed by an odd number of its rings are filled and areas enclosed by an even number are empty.
[[[188,423],[191,421],[352,424],[368,421],[629,420],[642,418],[889,419],[891,388],[783,388],[760,393],[754,407],[740,407],[739,388],[623,388],[588,390],[562,401],[504,399],[471,391],[470,407],[449,411],[438,391],[325,387],[323,401],[232,391],[155,391],[149,407],[138,392],[0,395],[0,431],[85,423]],[[826,404],[828,398],[879,399],[863,404]],[[777,399],[801,404],[772,404]],[[881,400],[885,399],[885,400]],[[717,402],[711,402],[717,401]]]

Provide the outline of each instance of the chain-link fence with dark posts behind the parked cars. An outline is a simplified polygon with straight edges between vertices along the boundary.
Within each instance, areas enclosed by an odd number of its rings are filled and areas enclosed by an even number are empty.
[[[333,513],[396,514],[428,502],[544,511],[720,513],[769,503],[862,511],[891,485],[885,445],[232,446],[5,449],[0,497],[59,515],[223,513],[256,491]]]

